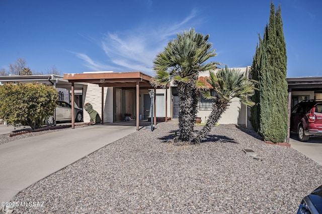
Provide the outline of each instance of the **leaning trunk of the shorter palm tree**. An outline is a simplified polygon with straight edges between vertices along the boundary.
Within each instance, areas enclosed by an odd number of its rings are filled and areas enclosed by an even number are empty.
[[[226,109],[229,107],[229,101],[225,99],[221,99],[219,97],[216,97],[213,106],[212,111],[209,115],[209,118],[206,122],[206,125],[202,128],[202,130],[198,133],[198,135],[195,137],[194,142],[200,143],[202,139],[204,139],[218,122],[218,120],[221,118],[221,115],[226,111]]]

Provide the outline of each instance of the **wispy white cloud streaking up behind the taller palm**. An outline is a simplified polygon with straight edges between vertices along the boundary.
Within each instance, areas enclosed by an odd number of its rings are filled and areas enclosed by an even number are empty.
[[[74,54],[85,61],[85,66],[93,71],[141,71],[152,75],[152,63],[156,54],[163,51],[168,42],[177,37],[177,33],[182,33],[191,26],[195,28],[199,22],[195,17],[196,11],[192,11],[183,21],[172,25],[155,27],[156,24],[151,23],[124,32],[106,33],[99,47],[108,57],[109,63],[99,63],[86,54]]]

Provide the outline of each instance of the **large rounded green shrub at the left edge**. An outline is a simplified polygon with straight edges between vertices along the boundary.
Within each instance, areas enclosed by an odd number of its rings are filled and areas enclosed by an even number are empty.
[[[0,86],[0,118],[13,126],[41,127],[44,118],[53,114],[58,94],[43,84],[6,84]]]

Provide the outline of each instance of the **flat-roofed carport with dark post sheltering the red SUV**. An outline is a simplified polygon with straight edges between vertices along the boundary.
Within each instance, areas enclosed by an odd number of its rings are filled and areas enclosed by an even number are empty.
[[[288,84],[288,132],[287,142],[290,139],[290,125],[291,125],[291,105],[293,95],[308,95],[308,99],[316,99],[315,92],[322,94],[322,77],[288,77],[286,78]],[[312,93],[308,93],[312,92]],[[313,97],[312,97],[313,96]],[[317,98],[319,99],[319,98]]]

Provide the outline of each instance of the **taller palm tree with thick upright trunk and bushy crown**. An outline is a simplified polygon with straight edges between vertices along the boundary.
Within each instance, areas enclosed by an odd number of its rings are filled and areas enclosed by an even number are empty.
[[[208,42],[209,35],[203,36],[194,29],[178,34],[178,38],[170,41],[165,50],[155,57],[152,78],[153,86],[166,88],[171,81],[178,87],[179,96],[179,141],[191,141],[194,138],[194,119],[197,114],[198,93],[200,88],[207,87],[198,81],[202,71],[217,68],[218,63],[205,63],[216,56]]]

